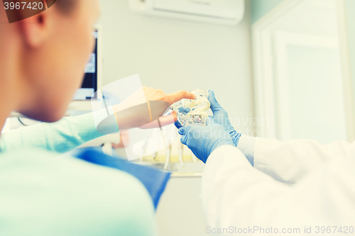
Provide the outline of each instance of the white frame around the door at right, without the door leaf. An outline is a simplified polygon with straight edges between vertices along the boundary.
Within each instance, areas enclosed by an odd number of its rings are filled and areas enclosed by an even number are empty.
[[[258,118],[268,118],[268,125],[256,127],[261,137],[280,138],[278,133],[278,104],[275,96],[275,71],[271,26],[307,0],[285,0],[272,11],[260,18],[252,26],[253,74],[255,113]],[[337,19],[339,28],[339,50],[344,88],[346,133],[349,142],[355,140],[355,109],[351,81],[348,32],[344,0],[337,0]]]

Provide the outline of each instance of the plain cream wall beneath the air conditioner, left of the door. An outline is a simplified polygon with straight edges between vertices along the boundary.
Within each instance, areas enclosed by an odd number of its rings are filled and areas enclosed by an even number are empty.
[[[143,85],[170,93],[214,89],[232,118],[253,113],[250,7],[235,27],[148,18],[128,0],[102,0],[104,84],[140,74]],[[251,130],[250,123],[238,130]],[[159,235],[206,235],[200,179],[173,179],[158,208]]]

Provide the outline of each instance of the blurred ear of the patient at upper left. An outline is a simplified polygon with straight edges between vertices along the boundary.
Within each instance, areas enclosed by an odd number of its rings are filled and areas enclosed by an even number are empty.
[[[19,30],[23,43],[27,47],[39,47],[50,37],[51,31],[53,31],[53,18],[48,11],[43,11],[30,18],[19,21]]]

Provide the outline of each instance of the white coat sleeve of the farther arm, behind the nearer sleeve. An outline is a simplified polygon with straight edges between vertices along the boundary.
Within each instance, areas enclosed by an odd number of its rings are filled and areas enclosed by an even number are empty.
[[[254,167],[278,181],[294,184],[320,164],[334,159],[355,159],[355,142],[322,145],[314,140],[280,142],[256,138]]]

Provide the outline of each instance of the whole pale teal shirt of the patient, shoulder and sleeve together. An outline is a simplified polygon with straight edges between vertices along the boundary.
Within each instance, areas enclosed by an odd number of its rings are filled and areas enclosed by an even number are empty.
[[[107,128],[118,131],[116,122]],[[100,136],[92,114],[3,133],[0,235],[155,235],[153,202],[138,179],[55,153]]]

